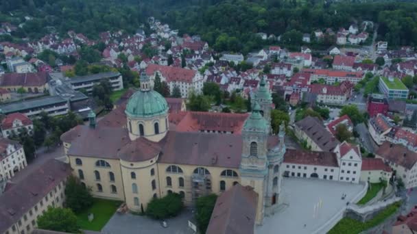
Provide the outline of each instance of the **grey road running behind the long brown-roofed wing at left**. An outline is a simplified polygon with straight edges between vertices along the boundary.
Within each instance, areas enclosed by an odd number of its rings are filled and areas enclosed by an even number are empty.
[[[36,151],[36,158],[33,159],[30,164],[27,164],[27,167],[25,167],[20,172],[17,172],[14,177],[12,177],[11,182],[12,183],[19,183],[23,179],[25,179],[29,174],[37,170],[40,166],[45,164],[46,161],[49,159],[54,159],[56,157],[62,157],[64,156],[64,146],[58,146],[56,148],[53,148],[49,151],[46,150],[45,147],[39,148],[38,151]]]

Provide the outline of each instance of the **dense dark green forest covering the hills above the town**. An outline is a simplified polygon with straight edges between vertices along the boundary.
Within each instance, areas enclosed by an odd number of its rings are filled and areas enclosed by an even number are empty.
[[[380,40],[391,47],[417,44],[417,3],[323,0],[2,0],[0,21],[19,25],[15,36],[40,38],[47,32],[75,30],[90,38],[106,30],[130,33],[148,16],[180,33],[199,34],[219,51],[263,46],[254,33],[282,36],[301,44],[300,34],[315,29],[347,28],[368,20],[378,23]],[[26,20],[25,16],[33,19]],[[297,39],[298,38],[298,39]],[[270,42],[269,42],[270,43]]]

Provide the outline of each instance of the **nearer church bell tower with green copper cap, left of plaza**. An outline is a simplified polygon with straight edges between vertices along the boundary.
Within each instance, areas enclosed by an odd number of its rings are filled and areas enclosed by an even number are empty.
[[[250,185],[258,193],[257,224],[262,224],[264,216],[265,192],[267,190],[267,139],[269,125],[261,115],[261,107],[254,103],[252,114],[243,125],[243,149],[239,171],[241,184]]]

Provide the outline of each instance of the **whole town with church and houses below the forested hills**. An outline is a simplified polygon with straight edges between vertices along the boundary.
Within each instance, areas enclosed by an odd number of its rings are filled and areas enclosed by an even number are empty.
[[[0,233],[417,232],[417,53],[377,27],[0,42]],[[45,230],[62,207],[79,226]]]

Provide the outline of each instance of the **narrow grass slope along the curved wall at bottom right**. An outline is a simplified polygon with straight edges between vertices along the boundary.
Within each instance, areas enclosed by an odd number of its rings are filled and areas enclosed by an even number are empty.
[[[328,234],[357,234],[362,231],[368,230],[378,224],[381,224],[386,218],[392,216],[396,211],[401,207],[401,202],[394,203],[389,205],[383,211],[379,212],[377,216],[368,220],[367,222],[360,222],[358,220],[353,220],[351,218],[342,218],[333,229],[329,231]]]

